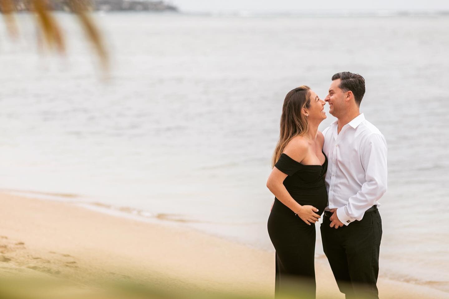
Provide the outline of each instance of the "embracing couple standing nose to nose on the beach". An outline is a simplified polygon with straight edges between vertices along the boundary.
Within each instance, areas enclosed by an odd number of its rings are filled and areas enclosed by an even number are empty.
[[[275,195],[268,220],[276,249],[276,296],[315,298],[315,223],[339,290],[350,298],[379,298],[382,223],[378,200],[387,189],[387,143],[360,113],[365,79],[332,77],[321,100],[308,86],[287,93],[280,138],[267,187]],[[337,118],[322,133],[324,106]]]

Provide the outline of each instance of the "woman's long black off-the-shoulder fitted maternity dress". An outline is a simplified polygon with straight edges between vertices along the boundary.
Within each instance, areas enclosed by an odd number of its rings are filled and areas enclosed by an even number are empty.
[[[300,205],[316,207],[318,215],[327,205],[324,184],[327,157],[324,156],[323,165],[304,165],[282,154],[275,165],[288,175],[284,186],[291,197]],[[268,233],[276,249],[275,294],[290,290],[301,298],[315,298],[315,225],[306,224],[275,198],[268,219]]]

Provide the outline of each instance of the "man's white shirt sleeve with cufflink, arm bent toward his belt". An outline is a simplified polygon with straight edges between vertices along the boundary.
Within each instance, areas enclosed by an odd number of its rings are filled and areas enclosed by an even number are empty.
[[[337,209],[338,219],[345,225],[361,220],[387,191],[387,141],[382,134],[371,134],[362,144],[360,159],[365,170],[365,183],[348,204]]]

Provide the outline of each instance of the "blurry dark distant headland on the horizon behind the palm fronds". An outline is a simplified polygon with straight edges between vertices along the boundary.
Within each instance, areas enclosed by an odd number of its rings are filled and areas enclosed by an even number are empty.
[[[49,10],[70,11],[70,5],[66,0],[47,0]],[[32,10],[31,1],[13,0],[16,11]],[[87,7],[92,11],[151,11],[151,12],[177,12],[178,8],[164,1],[149,0],[91,0]]]

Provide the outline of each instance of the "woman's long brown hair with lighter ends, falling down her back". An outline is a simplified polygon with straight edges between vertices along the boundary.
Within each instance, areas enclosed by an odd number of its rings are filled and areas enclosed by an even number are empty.
[[[301,110],[310,106],[310,87],[299,86],[285,96],[281,115],[281,132],[279,141],[274,149],[271,167],[274,167],[281,157],[286,145],[295,136],[302,136],[308,132],[308,122]]]

